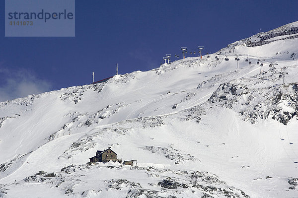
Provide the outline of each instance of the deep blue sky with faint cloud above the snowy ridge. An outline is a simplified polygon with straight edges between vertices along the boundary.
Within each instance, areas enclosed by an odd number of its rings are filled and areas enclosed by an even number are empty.
[[[0,101],[146,71],[180,48],[216,52],[298,21],[298,0],[75,0],[75,37],[4,37]],[[188,54],[189,55],[189,54]],[[172,61],[176,59],[173,57]]]

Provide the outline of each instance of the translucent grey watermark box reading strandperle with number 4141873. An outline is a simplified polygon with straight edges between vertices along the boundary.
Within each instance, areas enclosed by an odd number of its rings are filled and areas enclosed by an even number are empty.
[[[74,37],[75,0],[5,0],[5,37]]]

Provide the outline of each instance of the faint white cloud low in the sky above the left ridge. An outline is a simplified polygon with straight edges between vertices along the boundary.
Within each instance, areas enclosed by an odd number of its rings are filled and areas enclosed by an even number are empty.
[[[43,93],[50,89],[49,82],[38,79],[27,69],[0,68],[0,102]]]

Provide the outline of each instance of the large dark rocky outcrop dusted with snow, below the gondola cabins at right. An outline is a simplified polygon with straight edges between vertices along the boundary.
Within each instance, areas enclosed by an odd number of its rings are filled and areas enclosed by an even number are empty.
[[[298,84],[249,89],[242,84],[223,83],[208,102],[230,109],[236,107],[243,119],[252,124],[258,119],[272,118],[287,125],[298,115]]]

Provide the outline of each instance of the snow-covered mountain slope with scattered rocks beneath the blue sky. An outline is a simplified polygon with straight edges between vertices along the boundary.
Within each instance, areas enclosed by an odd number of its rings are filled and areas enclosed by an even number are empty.
[[[0,197],[298,197],[298,39],[260,36],[0,103]],[[139,169],[86,165],[108,147]]]

